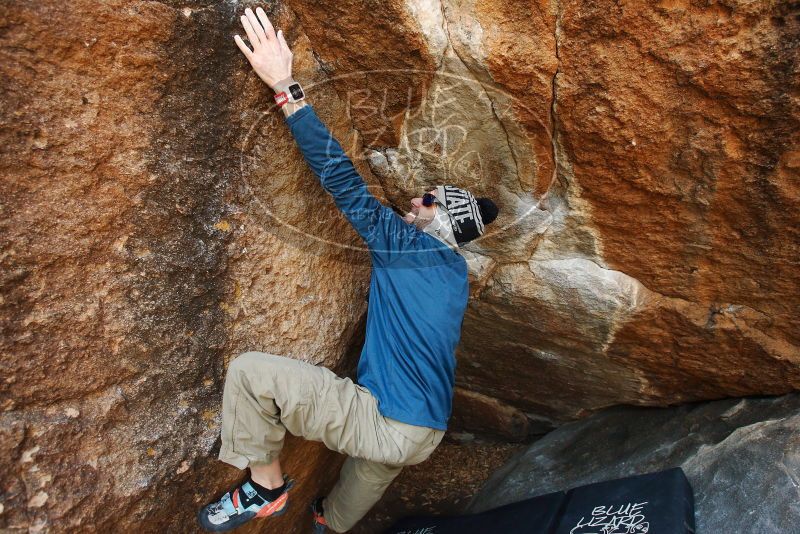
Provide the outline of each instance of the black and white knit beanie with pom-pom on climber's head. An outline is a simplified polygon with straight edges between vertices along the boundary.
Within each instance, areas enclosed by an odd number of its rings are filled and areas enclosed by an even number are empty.
[[[500,211],[490,199],[475,198],[454,185],[438,186],[436,198],[447,207],[453,237],[459,246],[483,235],[485,225],[494,221]]]

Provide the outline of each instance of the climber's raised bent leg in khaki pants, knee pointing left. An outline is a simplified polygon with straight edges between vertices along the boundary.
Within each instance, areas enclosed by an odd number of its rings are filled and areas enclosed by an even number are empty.
[[[264,352],[236,357],[225,379],[220,460],[240,469],[271,463],[287,430],[348,456],[398,465],[443,434],[385,418],[367,388],[326,367]]]

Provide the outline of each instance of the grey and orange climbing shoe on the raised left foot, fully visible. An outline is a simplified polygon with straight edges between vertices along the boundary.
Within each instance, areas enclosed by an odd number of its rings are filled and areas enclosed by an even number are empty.
[[[197,519],[204,529],[222,532],[241,526],[256,517],[282,515],[289,506],[289,489],[294,486],[294,480],[286,475],[283,476],[283,481],[283,491],[273,499],[266,499],[248,478],[218,501],[204,506],[197,513]]]

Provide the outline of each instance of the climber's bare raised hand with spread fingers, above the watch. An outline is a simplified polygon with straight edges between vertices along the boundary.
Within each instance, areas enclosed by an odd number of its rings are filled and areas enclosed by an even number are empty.
[[[283,30],[278,30],[278,34],[275,34],[275,29],[263,9],[259,7],[253,13],[248,7],[244,13],[242,26],[253,50],[238,35],[233,39],[258,77],[274,88],[277,82],[292,75],[292,51],[283,38]]]

